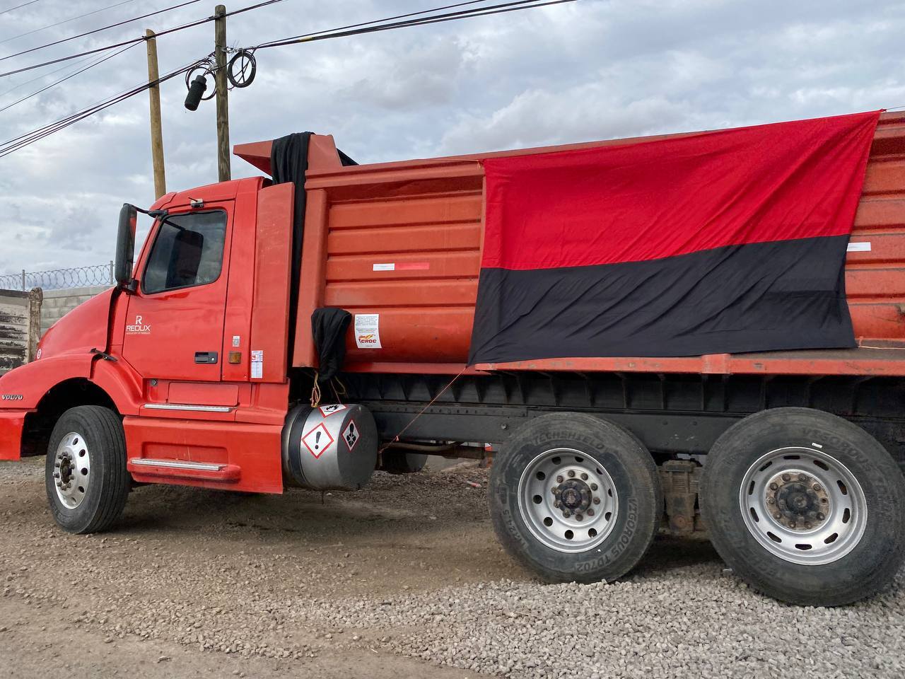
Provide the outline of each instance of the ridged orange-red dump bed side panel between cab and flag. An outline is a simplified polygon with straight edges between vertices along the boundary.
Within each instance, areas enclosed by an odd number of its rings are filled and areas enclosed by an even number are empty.
[[[329,208],[324,302],[379,313],[380,360],[462,357],[481,268],[481,192],[472,189]],[[375,358],[349,349],[350,359]]]

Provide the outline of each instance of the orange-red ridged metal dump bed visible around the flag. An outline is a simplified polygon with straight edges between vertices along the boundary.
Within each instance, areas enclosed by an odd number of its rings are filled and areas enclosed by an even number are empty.
[[[314,365],[310,314],[329,306],[369,315],[359,330],[373,328],[376,336],[368,345],[349,333],[347,369],[459,372],[468,356],[481,268],[481,159],[664,137],[353,167],[340,166],[331,138],[312,137],[295,364]],[[235,150],[269,171],[270,142]],[[881,114],[849,249],[845,282],[857,349],[538,359],[473,369],[905,374],[905,113]]]

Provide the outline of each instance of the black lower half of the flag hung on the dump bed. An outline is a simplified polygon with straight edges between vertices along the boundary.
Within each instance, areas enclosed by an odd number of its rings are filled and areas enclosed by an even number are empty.
[[[855,346],[849,237],[596,266],[481,269],[469,363]]]

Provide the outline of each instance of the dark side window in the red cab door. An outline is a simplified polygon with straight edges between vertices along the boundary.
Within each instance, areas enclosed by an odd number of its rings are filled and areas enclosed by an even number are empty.
[[[145,294],[205,285],[220,277],[226,213],[172,215],[160,225],[142,277]]]

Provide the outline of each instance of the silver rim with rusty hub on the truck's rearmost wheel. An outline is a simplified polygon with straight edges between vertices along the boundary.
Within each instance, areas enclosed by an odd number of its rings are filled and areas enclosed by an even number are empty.
[[[813,448],[779,448],[748,469],[742,517],[764,549],[792,563],[842,559],[864,534],[867,502],[848,468]]]

